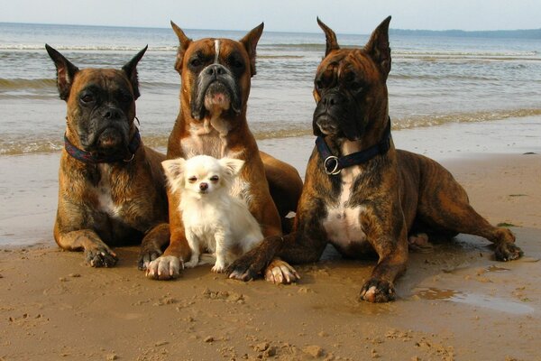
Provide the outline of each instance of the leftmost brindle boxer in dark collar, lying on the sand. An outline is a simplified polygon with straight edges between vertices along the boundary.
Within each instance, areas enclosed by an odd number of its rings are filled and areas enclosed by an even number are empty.
[[[117,257],[110,246],[169,237],[160,227],[167,222],[165,156],[143,146],[133,124],[136,67],[147,48],[122,69],[79,70],[45,47],[68,105],[54,239],[63,249],[83,250],[93,267],[111,267]]]

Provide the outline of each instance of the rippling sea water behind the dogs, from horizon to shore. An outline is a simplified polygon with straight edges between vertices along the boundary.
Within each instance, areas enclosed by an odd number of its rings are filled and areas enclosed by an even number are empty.
[[[245,34],[185,31],[192,39]],[[362,46],[368,37],[338,34],[338,42]],[[45,43],[79,68],[121,68],[148,44],[137,112],[144,142],[166,145],[179,112],[178,39],[170,28],[0,23],[0,156],[61,149],[66,107]],[[516,119],[541,116],[541,39],[397,35],[390,45],[394,129],[509,119],[512,132]],[[263,32],[248,107],[256,138],[311,134],[313,79],[324,51],[322,32]]]

